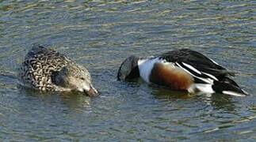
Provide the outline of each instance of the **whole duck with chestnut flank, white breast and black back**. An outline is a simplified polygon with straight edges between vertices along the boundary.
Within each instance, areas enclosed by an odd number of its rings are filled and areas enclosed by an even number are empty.
[[[147,83],[188,92],[244,96],[247,92],[228,76],[224,67],[194,50],[172,50],[152,58],[131,56],[118,70],[118,80],[141,77]]]

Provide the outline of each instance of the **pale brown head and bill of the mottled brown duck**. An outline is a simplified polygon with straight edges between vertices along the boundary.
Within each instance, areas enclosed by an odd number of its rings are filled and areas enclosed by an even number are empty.
[[[90,73],[80,65],[67,65],[53,73],[52,81],[66,90],[82,92],[91,97],[99,95],[93,87]]]

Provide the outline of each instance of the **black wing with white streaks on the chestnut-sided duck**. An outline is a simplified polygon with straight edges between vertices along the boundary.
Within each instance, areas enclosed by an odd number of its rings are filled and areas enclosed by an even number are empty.
[[[172,50],[161,54],[159,57],[165,59],[167,62],[174,62],[182,69],[185,69],[197,77],[208,77],[213,80],[220,80],[228,75],[234,76],[234,73],[231,71],[194,50]]]

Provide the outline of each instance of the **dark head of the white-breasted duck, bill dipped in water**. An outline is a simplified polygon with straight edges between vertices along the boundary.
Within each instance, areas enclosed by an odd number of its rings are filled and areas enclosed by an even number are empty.
[[[117,80],[129,80],[139,77],[139,57],[130,56],[120,65]]]

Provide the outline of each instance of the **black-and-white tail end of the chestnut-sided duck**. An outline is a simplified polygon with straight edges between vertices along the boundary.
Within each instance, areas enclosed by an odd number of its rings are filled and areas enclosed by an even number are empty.
[[[235,83],[234,80],[230,78],[224,78],[221,81],[213,81],[213,84],[194,84],[193,88],[189,88],[189,91],[193,90],[206,93],[220,93],[225,95],[235,95],[235,96],[246,96],[249,95],[248,92],[244,91]]]

